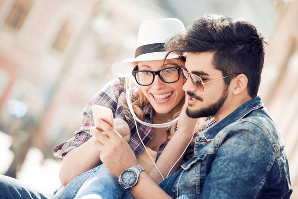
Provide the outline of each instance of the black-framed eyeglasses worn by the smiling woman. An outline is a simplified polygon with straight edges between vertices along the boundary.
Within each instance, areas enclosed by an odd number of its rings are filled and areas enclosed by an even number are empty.
[[[133,71],[132,74],[140,86],[149,86],[153,83],[155,75],[158,75],[160,80],[167,84],[177,82],[180,77],[180,70],[180,66],[176,66],[159,71]]]

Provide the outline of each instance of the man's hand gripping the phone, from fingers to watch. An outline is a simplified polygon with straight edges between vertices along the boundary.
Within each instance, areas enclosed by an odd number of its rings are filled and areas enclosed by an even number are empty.
[[[107,169],[119,178],[125,169],[138,165],[137,158],[125,139],[108,123],[98,119],[101,130],[92,128],[91,132],[98,141],[100,160]]]

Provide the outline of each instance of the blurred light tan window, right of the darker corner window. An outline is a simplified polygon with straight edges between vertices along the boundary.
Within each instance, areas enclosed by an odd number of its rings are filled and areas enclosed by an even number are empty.
[[[74,24],[69,20],[65,20],[61,26],[60,31],[52,45],[52,48],[60,52],[64,52],[67,45],[69,44],[71,37],[74,33]]]

